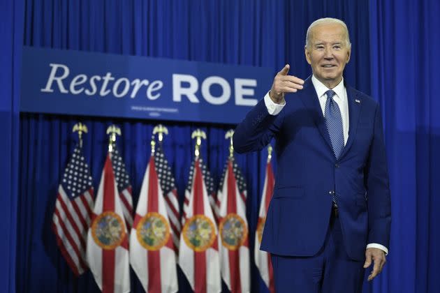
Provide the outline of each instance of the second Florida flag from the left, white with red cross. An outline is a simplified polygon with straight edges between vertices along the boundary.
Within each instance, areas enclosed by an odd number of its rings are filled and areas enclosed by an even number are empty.
[[[130,234],[130,262],[146,292],[179,289],[173,237],[154,156],[140,188]]]

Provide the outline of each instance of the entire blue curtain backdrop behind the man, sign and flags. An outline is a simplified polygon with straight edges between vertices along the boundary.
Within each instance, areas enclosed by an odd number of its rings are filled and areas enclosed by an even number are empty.
[[[89,127],[85,156],[97,188],[108,141],[105,129],[110,123],[121,126],[118,144],[136,202],[149,156],[149,137],[159,123],[21,114],[19,128],[21,43],[267,66],[274,73],[290,63],[291,73],[305,78],[310,74],[304,58],[305,31],[310,22],[327,16],[341,18],[350,29],[353,52],[346,80],[372,93],[383,110],[393,188],[392,241],[386,269],[374,283],[365,284],[364,291],[440,292],[434,287],[440,273],[440,232],[434,227],[440,220],[440,118],[434,112],[440,109],[439,98],[435,98],[440,86],[434,74],[434,66],[440,64],[440,41],[435,38],[440,27],[438,1],[6,2],[9,4],[3,9],[2,2],[0,12],[7,28],[0,31],[4,40],[1,60],[6,64],[0,75],[0,94],[6,134],[2,150],[8,160],[1,166],[4,175],[0,180],[10,197],[1,197],[1,227],[6,237],[0,242],[4,248],[0,250],[4,253],[0,276],[8,284],[8,292],[98,292],[91,273],[73,277],[50,230],[57,185],[75,144],[71,129],[80,120]],[[224,133],[231,126],[166,125],[170,135],[165,152],[182,202],[193,153],[191,131],[198,126],[207,131],[202,153],[218,183],[227,156]],[[248,183],[251,249],[265,156],[264,151],[237,156]],[[253,260],[251,276],[253,292],[267,292]],[[132,291],[142,292],[133,271],[131,278]],[[182,273],[179,285],[181,292],[189,292]]]

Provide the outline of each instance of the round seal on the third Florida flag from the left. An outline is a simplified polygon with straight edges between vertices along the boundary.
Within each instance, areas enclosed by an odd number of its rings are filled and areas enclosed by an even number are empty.
[[[186,220],[182,234],[186,245],[197,252],[210,248],[217,236],[214,223],[204,215],[195,215]]]

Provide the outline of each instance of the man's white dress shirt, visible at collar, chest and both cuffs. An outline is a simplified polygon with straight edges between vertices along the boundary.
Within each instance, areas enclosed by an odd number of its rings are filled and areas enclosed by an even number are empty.
[[[328,91],[328,87],[325,87],[325,85],[320,82],[314,75],[311,76],[311,82],[313,83],[313,86],[316,90],[316,96],[319,100],[319,105],[321,105],[321,110],[323,111],[323,117],[325,117],[325,102],[327,101],[327,95],[325,94],[326,91]],[[347,140],[349,140],[349,101],[347,98],[347,90],[344,86],[344,78],[342,78],[341,82],[332,89],[335,91],[335,96],[333,96],[333,99],[339,106],[339,110],[341,111],[342,115],[342,128],[344,130],[344,145],[347,143]],[[264,96],[264,103],[267,108],[267,112],[271,115],[277,115],[281,110],[283,110],[283,107],[286,105],[286,101],[284,101],[283,104],[277,104],[272,101],[272,99],[269,96],[269,93],[266,93]],[[385,252],[386,255],[388,255],[388,248],[385,246],[379,244],[379,243],[369,243],[367,245],[367,248],[379,248]]]

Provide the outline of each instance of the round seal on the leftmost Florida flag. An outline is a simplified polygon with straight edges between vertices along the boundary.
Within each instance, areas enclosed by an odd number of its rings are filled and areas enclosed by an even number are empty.
[[[117,213],[105,211],[91,223],[91,235],[99,247],[112,250],[124,240],[124,226],[124,221]]]

